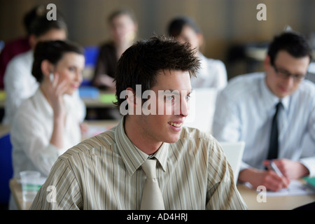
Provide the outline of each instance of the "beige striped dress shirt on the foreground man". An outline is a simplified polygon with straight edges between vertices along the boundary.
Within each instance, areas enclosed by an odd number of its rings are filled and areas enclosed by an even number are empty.
[[[149,155],[128,139],[123,120],[59,156],[30,209],[140,209]],[[211,135],[183,127],[153,156],[165,209],[247,209]]]

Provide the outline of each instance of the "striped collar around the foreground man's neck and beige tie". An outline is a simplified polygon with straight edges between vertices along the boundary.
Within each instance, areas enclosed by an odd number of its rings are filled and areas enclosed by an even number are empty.
[[[115,130],[115,139],[125,167],[130,175],[132,175],[139,169],[139,167],[141,167],[144,161],[148,159],[149,155],[132,144],[132,141],[130,141],[125,134],[124,121],[125,117],[120,120],[120,123]],[[163,143],[159,150],[153,154],[164,171],[166,170],[167,165],[168,146],[169,144]]]

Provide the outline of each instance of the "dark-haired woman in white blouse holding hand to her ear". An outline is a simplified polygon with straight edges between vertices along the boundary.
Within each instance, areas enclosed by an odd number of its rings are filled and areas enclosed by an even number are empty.
[[[32,74],[35,94],[16,111],[11,126],[14,177],[24,170],[48,176],[66,149],[81,140],[80,113],[71,95],[82,83],[83,50],[66,41],[39,42]]]

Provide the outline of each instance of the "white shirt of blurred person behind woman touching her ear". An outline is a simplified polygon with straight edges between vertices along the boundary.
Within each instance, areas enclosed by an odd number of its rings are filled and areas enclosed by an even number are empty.
[[[31,97],[37,90],[39,84],[36,78],[31,74],[33,66],[33,50],[29,50],[13,59],[8,63],[6,73],[4,74],[4,89],[6,91],[5,114],[2,123],[10,125],[15,112],[20,104]],[[86,108],[80,99],[78,90],[73,93],[73,100],[78,102],[78,108],[82,117],[85,118]]]

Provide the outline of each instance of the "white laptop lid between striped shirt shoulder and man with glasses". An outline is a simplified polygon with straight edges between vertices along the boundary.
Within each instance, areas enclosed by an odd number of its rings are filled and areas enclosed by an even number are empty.
[[[230,163],[235,183],[237,183],[237,179],[239,177],[239,169],[241,167],[241,158],[244,153],[245,141],[237,141],[237,142],[219,142],[225,152],[225,155]]]

